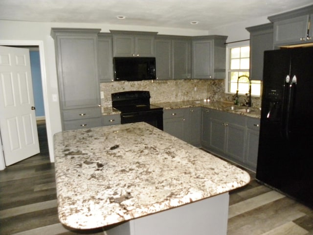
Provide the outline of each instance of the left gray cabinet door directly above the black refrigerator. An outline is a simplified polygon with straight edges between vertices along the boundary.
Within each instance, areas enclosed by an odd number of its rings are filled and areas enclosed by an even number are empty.
[[[274,22],[274,45],[307,42],[309,15]]]

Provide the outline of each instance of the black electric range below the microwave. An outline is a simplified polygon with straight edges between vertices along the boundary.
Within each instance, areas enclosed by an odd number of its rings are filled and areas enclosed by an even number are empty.
[[[118,92],[111,97],[112,107],[121,111],[121,124],[145,121],[163,130],[163,108],[150,104],[150,92]]]

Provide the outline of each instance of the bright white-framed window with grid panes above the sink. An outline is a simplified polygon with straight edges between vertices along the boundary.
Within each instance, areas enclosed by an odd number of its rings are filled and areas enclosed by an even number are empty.
[[[250,47],[228,47],[226,92],[247,94],[249,91]],[[239,80],[238,77],[242,76]],[[261,81],[251,80],[251,95],[260,96]]]

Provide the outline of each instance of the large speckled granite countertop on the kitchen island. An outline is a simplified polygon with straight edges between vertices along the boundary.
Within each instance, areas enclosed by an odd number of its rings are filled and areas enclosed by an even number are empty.
[[[145,122],[54,135],[60,221],[90,229],[246,185],[248,173]]]

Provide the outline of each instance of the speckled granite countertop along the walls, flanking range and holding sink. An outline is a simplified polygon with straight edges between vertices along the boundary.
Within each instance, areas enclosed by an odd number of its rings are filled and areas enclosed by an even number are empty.
[[[224,101],[204,101],[204,100],[187,100],[187,101],[177,101],[177,102],[163,102],[163,103],[153,103],[153,105],[162,107],[163,109],[180,109],[180,108],[192,108],[192,107],[204,107],[215,110],[220,110],[228,113],[245,115],[252,118],[260,118],[261,111],[256,107],[249,107],[251,110],[250,113],[243,112],[240,110],[244,110],[248,107],[246,106],[235,106],[231,102]],[[231,106],[234,107],[234,110],[231,109]],[[120,111],[112,108],[112,107],[104,107],[102,108],[103,115],[111,115],[111,114],[120,114]]]

